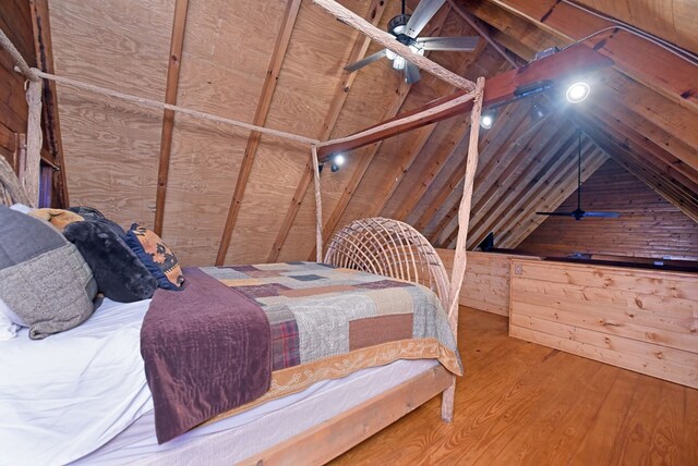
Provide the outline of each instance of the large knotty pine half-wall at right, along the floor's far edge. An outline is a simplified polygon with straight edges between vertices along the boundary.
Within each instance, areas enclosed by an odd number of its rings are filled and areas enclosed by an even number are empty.
[[[698,275],[512,261],[509,334],[698,388]]]

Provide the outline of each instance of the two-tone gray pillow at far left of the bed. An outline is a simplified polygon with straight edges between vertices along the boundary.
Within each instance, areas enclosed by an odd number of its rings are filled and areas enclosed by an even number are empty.
[[[47,222],[0,206],[0,298],[43,339],[93,312],[97,284],[74,245]]]

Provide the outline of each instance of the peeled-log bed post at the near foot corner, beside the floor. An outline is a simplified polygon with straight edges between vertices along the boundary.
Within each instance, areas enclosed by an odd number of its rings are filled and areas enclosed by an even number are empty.
[[[458,238],[456,240],[456,254],[454,268],[450,275],[450,291],[448,292],[448,323],[454,336],[458,341],[458,295],[466,274],[467,255],[466,240],[468,238],[468,224],[470,222],[470,204],[472,200],[472,185],[478,170],[478,136],[480,135],[480,113],[482,112],[482,96],[484,94],[484,77],[479,77],[476,84],[476,96],[472,111],[470,112],[470,140],[468,146],[468,161],[466,162],[466,181],[462,186],[462,197],[458,209]],[[454,418],[454,397],[456,395],[456,377],[444,391],[441,404],[441,417],[446,422]]]

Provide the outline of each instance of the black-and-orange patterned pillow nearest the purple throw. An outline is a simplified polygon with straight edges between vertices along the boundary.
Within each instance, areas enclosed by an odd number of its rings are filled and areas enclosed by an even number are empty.
[[[184,275],[174,253],[153,231],[134,223],[124,241],[155,277],[159,287],[179,290],[182,286]]]

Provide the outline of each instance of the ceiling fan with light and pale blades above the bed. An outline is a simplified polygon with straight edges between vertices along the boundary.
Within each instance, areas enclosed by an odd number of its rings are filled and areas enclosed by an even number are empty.
[[[471,52],[478,46],[479,37],[418,37],[426,23],[436,14],[446,0],[422,0],[412,14],[405,13],[405,0],[402,0],[402,13],[388,22],[388,33],[395,36],[400,44],[408,46],[414,53],[424,54],[426,50],[446,50]],[[404,71],[407,84],[417,83],[420,79],[419,68],[393,50],[383,49],[345,66],[346,71],[357,71],[383,57],[393,61],[395,70]]]

